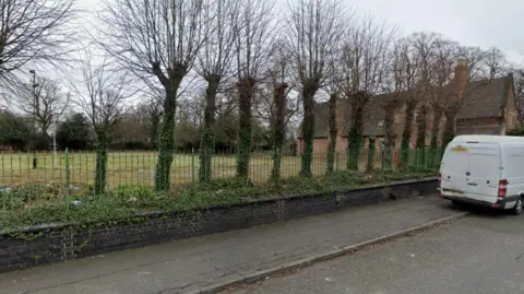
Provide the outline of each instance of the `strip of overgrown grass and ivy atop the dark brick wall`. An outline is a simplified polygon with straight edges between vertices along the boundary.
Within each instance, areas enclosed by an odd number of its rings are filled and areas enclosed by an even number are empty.
[[[70,190],[67,198],[61,186],[27,185],[0,192],[0,230],[12,231],[43,223],[103,224],[131,220],[151,211],[190,211],[434,175],[434,170],[341,172],[310,179],[288,178],[279,186],[222,179],[207,185],[179,185],[170,193],[156,193],[143,185],[122,185],[97,197],[93,196],[90,186],[85,186]]]

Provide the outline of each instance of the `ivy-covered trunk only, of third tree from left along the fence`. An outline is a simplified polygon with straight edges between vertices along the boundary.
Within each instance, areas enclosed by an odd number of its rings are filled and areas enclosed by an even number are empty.
[[[216,93],[221,83],[221,77],[212,74],[207,78],[207,90],[205,91],[204,129],[200,142],[200,169],[199,179],[201,183],[210,183],[212,179],[212,161],[215,152],[215,108]]]

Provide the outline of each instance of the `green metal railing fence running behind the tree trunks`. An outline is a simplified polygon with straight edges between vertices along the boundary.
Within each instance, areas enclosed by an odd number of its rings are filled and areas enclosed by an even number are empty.
[[[348,157],[354,157],[359,170],[366,170],[372,165],[373,169],[400,169],[403,164],[401,158],[407,153],[408,162],[404,167],[415,169],[437,168],[440,162],[440,150],[394,150],[391,165],[386,165],[386,156],[382,150],[362,150],[360,154],[353,155],[346,151],[335,153],[333,169],[342,172],[348,169]],[[26,185],[68,186],[72,189],[85,188],[94,184],[96,154],[94,152],[60,152],[38,153],[37,168],[33,168],[33,153],[1,153],[0,154],[0,189],[13,189]],[[357,158],[358,157],[358,158]],[[315,152],[312,156],[311,173],[313,176],[326,174],[327,154]],[[153,186],[156,152],[109,152],[107,162],[107,189],[121,185]],[[282,178],[297,177],[300,172],[301,154],[283,153],[281,164]],[[231,152],[217,152],[213,154],[213,179],[234,178],[236,176],[237,157]],[[253,152],[250,161],[249,178],[254,184],[270,180],[273,167],[271,152]],[[188,184],[198,183],[199,154],[196,152],[177,153],[170,172],[170,183]],[[67,185],[69,184],[69,185]]]

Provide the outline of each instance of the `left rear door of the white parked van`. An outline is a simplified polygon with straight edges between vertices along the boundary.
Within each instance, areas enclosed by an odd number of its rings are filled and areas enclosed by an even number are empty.
[[[445,150],[441,163],[442,193],[449,196],[462,196],[466,191],[466,179],[469,166],[467,146],[460,143],[450,143]]]

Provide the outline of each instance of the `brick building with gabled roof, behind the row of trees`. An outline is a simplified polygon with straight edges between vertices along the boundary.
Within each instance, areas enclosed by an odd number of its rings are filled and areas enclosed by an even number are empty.
[[[467,67],[466,67],[467,69]],[[460,74],[455,70],[455,77]],[[456,117],[456,134],[505,134],[508,130],[516,126],[515,96],[513,90],[513,75],[508,74],[490,81],[473,81],[466,84],[464,104]],[[377,144],[384,138],[385,111],[394,111],[393,132],[395,143],[400,145],[402,131],[404,129],[405,105],[397,104],[394,109],[389,108],[392,101],[402,101],[397,93],[377,95],[367,103],[364,115],[365,146],[368,145],[368,138],[376,137]],[[336,142],[337,151],[347,149],[347,134],[352,122],[352,105],[348,99],[338,99],[336,109],[338,136]],[[415,113],[417,116],[417,110]],[[314,152],[326,152],[329,144],[329,121],[330,109],[327,103],[315,104],[314,108]],[[432,111],[427,116],[427,138],[429,144],[431,136]],[[441,120],[440,138],[444,129],[445,119]],[[417,137],[416,118],[414,119],[412,146],[415,146]],[[303,137],[300,132],[297,140],[298,150],[302,150]]]

